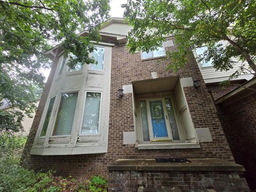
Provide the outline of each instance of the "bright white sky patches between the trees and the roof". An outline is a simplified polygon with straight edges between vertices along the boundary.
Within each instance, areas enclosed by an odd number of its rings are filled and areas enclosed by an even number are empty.
[[[110,12],[109,12],[109,15],[110,17],[123,17],[123,13],[124,13],[124,9],[121,8],[121,4],[124,4],[124,3],[127,3],[127,0],[111,0],[110,2]],[[51,69],[42,69],[42,73],[44,74],[44,76],[47,77],[49,76],[50,74],[50,70]],[[45,79],[45,82],[46,82],[46,79]]]

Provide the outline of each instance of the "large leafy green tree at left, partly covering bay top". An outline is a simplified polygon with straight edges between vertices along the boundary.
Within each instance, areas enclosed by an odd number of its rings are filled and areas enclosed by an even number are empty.
[[[65,56],[73,53],[71,68],[77,62],[95,63],[90,41],[99,41],[109,9],[109,0],[0,0],[0,102],[6,99],[27,115],[35,110],[35,86],[44,84],[41,69],[51,67],[44,52],[53,42],[62,42]],[[78,36],[82,30],[89,34]],[[19,112],[1,111],[0,132],[22,129]]]

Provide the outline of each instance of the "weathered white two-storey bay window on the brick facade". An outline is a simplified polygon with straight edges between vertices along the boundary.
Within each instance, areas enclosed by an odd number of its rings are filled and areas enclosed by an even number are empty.
[[[59,58],[31,154],[107,152],[111,46],[95,48],[98,65],[67,69],[65,57]]]

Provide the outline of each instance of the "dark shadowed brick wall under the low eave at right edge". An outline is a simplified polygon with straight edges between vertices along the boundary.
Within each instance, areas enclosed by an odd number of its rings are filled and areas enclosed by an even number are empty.
[[[235,161],[245,167],[251,189],[256,189],[256,93],[227,107],[219,117]]]

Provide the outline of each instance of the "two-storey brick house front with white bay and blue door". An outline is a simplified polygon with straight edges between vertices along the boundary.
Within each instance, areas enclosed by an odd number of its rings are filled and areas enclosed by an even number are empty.
[[[196,59],[166,70],[161,58],[177,49],[171,36],[156,51],[130,54],[131,29],[120,18],[101,27],[98,65],[71,70],[61,46],[46,52],[54,62],[21,164],[104,175],[109,191],[249,191]]]

